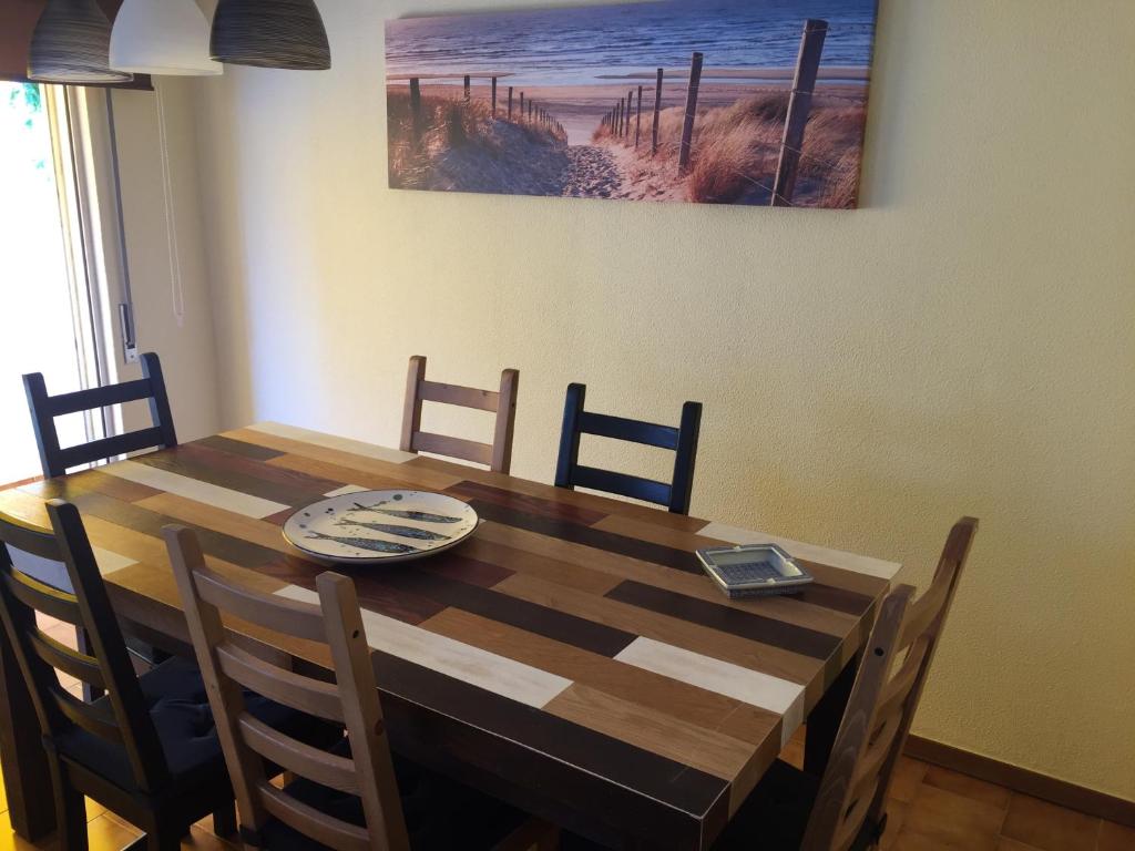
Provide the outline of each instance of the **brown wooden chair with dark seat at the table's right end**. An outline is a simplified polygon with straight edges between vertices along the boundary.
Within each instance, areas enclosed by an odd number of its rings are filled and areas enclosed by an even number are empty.
[[[894,766],[976,532],[970,517],[953,526],[920,598],[901,585],[883,601],[823,777],[777,761],[715,849],[848,851],[877,844]]]

